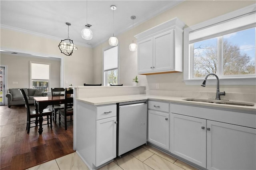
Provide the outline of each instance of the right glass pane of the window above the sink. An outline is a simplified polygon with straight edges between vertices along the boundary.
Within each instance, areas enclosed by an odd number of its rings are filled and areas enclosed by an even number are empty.
[[[255,28],[223,36],[223,75],[255,74]]]

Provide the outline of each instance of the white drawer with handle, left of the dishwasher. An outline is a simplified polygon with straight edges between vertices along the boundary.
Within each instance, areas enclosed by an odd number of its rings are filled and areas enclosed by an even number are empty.
[[[116,105],[97,107],[96,120],[116,116]]]

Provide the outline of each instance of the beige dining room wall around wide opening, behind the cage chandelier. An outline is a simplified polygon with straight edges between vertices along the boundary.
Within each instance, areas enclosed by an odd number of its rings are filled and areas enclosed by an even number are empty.
[[[64,87],[68,87],[71,83],[72,85],[92,83],[92,48],[75,44],[78,47],[78,50],[74,51],[71,56],[66,56],[60,53],[60,49],[58,48],[60,40],[26,34],[14,30],[1,29],[0,31],[1,48],[62,58],[64,63]],[[1,64],[3,65],[2,61]],[[6,65],[10,64],[12,63],[6,63]],[[7,74],[9,74],[9,72],[7,72]],[[12,81],[12,79],[9,80]],[[24,80],[24,83],[22,84],[26,84],[27,82],[28,81],[25,82]]]

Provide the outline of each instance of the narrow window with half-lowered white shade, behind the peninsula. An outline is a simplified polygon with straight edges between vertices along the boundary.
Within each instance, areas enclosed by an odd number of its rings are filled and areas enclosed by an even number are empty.
[[[104,85],[118,84],[118,46],[104,51]]]

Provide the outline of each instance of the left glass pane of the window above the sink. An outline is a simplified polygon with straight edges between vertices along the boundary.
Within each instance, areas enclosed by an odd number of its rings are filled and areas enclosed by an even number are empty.
[[[217,73],[217,40],[211,38],[194,43],[193,77]]]

